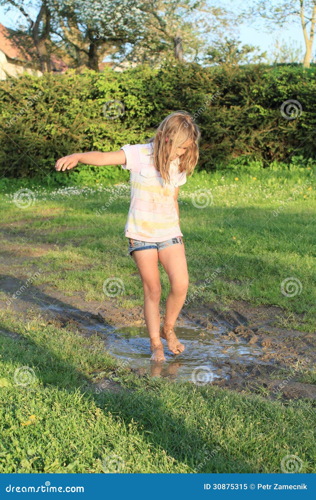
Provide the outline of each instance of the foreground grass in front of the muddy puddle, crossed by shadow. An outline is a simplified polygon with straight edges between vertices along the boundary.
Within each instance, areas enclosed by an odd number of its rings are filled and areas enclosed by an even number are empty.
[[[298,457],[299,472],[314,470],[307,400],[137,377],[99,338],[43,318],[1,312],[0,327],[8,332],[0,336],[1,472],[282,472],[287,455]],[[85,389],[100,369],[121,392]]]

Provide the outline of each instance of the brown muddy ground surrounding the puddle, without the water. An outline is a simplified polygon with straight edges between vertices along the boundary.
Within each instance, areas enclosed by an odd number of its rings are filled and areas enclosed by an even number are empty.
[[[66,296],[51,283],[30,284],[19,298],[13,299],[12,295],[28,278],[25,274],[27,260],[39,256],[41,251],[45,253],[48,248],[54,248],[54,245],[41,244],[32,253],[30,246],[21,247],[15,241],[0,254],[0,290],[5,294],[0,297],[1,309],[15,311],[23,317],[27,312],[41,314],[57,326],[74,327],[85,336],[92,334],[93,326],[96,331],[101,325],[109,329],[123,325],[145,326],[142,307],[118,307],[116,298],[86,302],[84,292],[74,291],[72,296]],[[33,267],[30,265],[28,271],[35,272],[37,266]],[[162,318],[163,314],[161,308]],[[220,330],[219,340],[230,338],[235,342],[246,341],[261,348],[261,353],[252,362],[240,362],[240,359],[233,357],[219,361],[222,363],[222,372],[228,376],[213,380],[213,384],[231,390],[265,394],[270,399],[278,395],[283,399],[315,400],[316,385],[301,383],[297,369],[285,380],[276,378],[275,374],[278,370],[295,366],[297,361],[310,368],[315,366],[316,336],[275,326],[277,317],[286,317],[280,307],[252,306],[244,301],[233,300],[226,307],[215,302],[202,304],[198,308],[183,307],[176,326],[185,325],[190,320],[201,327],[202,335],[208,332],[216,334]],[[140,370],[134,371],[140,373]],[[102,378],[97,383],[106,385],[109,390],[119,390],[119,384],[110,379]]]

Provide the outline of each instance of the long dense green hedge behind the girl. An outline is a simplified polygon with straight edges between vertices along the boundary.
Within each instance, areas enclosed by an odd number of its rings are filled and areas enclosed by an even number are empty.
[[[123,72],[25,74],[3,82],[0,90],[0,173],[63,184],[120,181],[128,172],[113,166],[80,164],[61,175],[54,165],[76,151],[141,143],[176,109],[191,112],[201,128],[199,169],[250,161],[264,167],[273,161],[288,163],[294,155],[313,158],[314,85],[314,68],[303,71],[291,65],[227,68],[166,62],[154,70],[142,65]],[[116,119],[103,112],[113,99],[125,107]],[[302,108],[294,119],[280,111],[288,99]]]

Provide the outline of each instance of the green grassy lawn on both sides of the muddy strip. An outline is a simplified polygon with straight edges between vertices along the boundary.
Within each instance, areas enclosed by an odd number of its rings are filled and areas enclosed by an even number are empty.
[[[278,305],[286,311],[283,327],[312,333],[315,165],[264,171],[253,165],[236,172],[194,173],[182,186],[190,305],[233,299]],[[50,283],[69,295],[83,291],[87,302],[107,299],[105,279],[119,278],[124,288],[115,297],[118,306],[142,305],[124,236],[128,185],[52,190],[4,182],[3,274],[41,268],[37,285]],[[14,193],[25,187],[32,203],[22,208]],[[216,269],[201,296],[199,284]],[[287,278],[294,288],[286,286]],[[164,272],[161,283],[163,302]],[[32,311],[21,318],[3,309],[0,328],[3,472],[282,472],[291,459],[299,472],[314,471],[311,401],[269,401],[264,394],[138,377],[105,352],[98,337],[86,338],[70,325],[58,328]],[[21,366],[33,370],[26,387],[17,382]],[[121,389],[88,390],[100,371]]]

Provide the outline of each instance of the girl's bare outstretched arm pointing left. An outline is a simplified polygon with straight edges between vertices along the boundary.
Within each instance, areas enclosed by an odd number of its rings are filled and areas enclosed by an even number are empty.
[[[59,158],[55,163],[56,170],[69,170],[73,168],[78,163],[85,163],[87,165],[122,165],[126,163],[126,156],[123,149],[119,151],[88,151],[86,153],[74,153],[68,156],[63,156]]]

